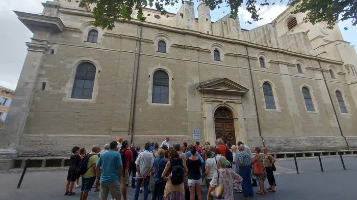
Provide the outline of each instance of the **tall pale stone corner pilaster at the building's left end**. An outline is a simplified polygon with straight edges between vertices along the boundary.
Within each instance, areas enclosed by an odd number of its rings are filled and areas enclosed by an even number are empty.
[[[26,43],[28,54],[23,63],[4,128],[0,134],[0,159],[11,159],[17,156],[16,146],[31,108],[38,73],[49,49],[47,41],[43,39],[48,39],[48,37],[48,32],[35,31],[32,42]]]

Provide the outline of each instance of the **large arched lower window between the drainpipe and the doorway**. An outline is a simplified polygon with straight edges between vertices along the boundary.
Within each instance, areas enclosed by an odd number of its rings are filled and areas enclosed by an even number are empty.
[[[169,76],[162,70],[155,72],[152,77],[152,103],[169,103]]]

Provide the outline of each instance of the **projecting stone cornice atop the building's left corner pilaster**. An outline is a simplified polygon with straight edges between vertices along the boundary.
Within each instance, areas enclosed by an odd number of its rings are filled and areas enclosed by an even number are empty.
[[[36,30],[46,30],[49,32],[62,32],[66,26],[58,17],[49,17],[45,15],[36,15],[31,13],[23,13],[14,11],[17,18],[32,32]]]

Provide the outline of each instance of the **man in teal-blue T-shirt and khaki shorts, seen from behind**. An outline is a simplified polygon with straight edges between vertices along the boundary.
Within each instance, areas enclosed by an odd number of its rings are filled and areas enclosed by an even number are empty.
[[[112,198],[121,199],[120,178],[123,176],[123,164],[118,151],[118,143],[109,144],[110,151],[102,154],[96,164],[96,172],[100,174],[100,196],[107,199],[110,192]],[[100,169],[101,167],[101,169]]]

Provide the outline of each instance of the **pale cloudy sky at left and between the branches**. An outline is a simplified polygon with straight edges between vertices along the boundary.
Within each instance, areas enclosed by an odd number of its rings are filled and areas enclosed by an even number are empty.
[[[24,59],[27,54],[27,46],[25,42],[30,42],[30,38],[33,36],[32,32],[23,25],[18,19],[13,10],[39,14],[42,12],[42,2],[46,0],[0,0],[0,85],[8,87],[10,89],[15,89]],[[180,2],[180,1],[179,1]],[[195,15],[197,17],[197,6],[195,3]],[[279,1],[276,1],[279,2]],[[167,11],[171,13],[176,13],[179,6],[167,7]],[[263,17],[262,20],[258,22],[253,22],[252,24],[245,23],[250,19],[250,13],[244,10],[244,8],[239,9],[239,20],[241,28],[252,29],[257,26],[270,23],[275,17],[282,13],[287,7],[285,4],[275,4],[273,6],[263,7],[259,14]],[[211,20],[217,21],[226,14],[228,14],[229,8],[222,7],[220,9],[215,9],[211,11]],[[223,13],[225,12],[225,13]],[[357,27],[352,26],[349,20],[339,23],[342,36],[345,41],[351,42],[351,45],[357,44],[357,38],[355,33],[357,32]],[[343,30],[343,27],[348,27],[348,30]]]

